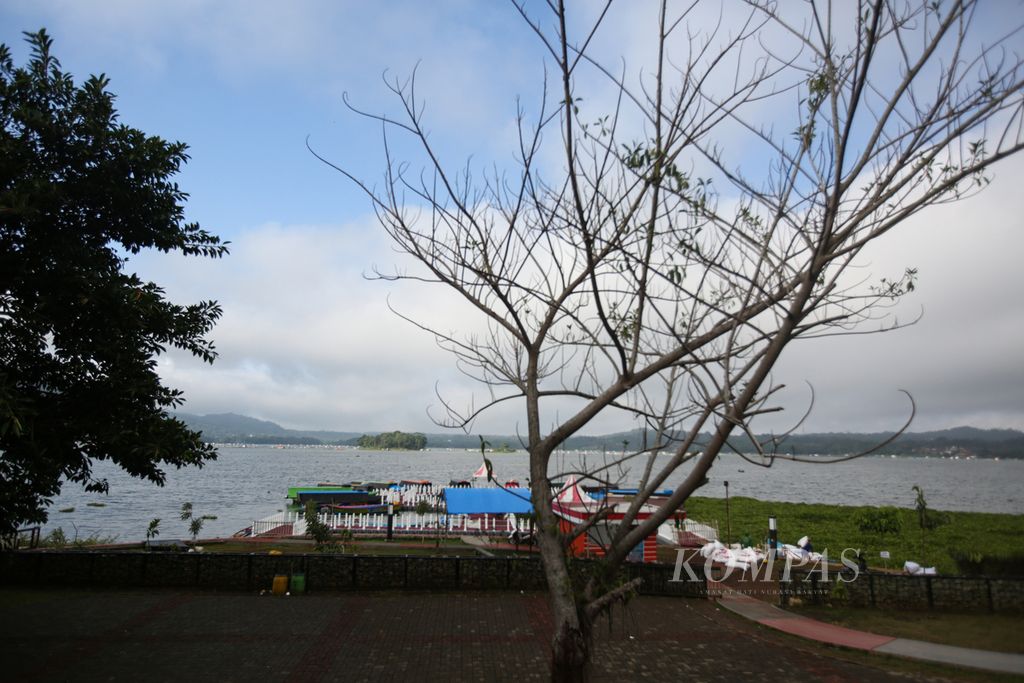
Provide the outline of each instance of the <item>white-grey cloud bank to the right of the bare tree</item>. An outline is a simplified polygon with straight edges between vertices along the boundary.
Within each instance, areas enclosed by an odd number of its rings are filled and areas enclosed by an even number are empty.
[[[864,254],[874,280],[918,267],[916,291],[896,310],[892,333],[822,339],[787,349],[777,375],[795,392],[811,381],[818,402],[810,428],[893,428],[905,415],[897,389],[914,395],[913,429],[955,424],[1024,428],[1024,161],[993,170],[979,196],[932,209]],[[806,393],[806,392],[805,392]]]

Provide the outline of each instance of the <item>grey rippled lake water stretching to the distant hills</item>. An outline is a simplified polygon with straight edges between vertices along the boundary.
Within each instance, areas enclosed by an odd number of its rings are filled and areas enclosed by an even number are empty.
[[[527,478],[524,453],[490,457],[501,480]],[[592,469],[600,455],[565,454],[556,465],[561,471],[580,469],[581,460]],[[60,526],[69,538],[117,536],[139,541],[154,517],[161,518],[161,539],[186,538],[187,522],[179,520],[181,504],[190,502],[196,515],[216,515],[206,521],[203,537],[230,536],[254,519],[285,507],[289,486],[318,481],[430,479],[446,483],[468,479],[479,467],[478,452],[425,451],[382,453],[316,447],[222,446],[220,457],[203,469],[172,470],[167,485],[132,479],[108,463],[95,468],[111,482],[108,495],[87,494],[70,484],[50,507],[44,532]],[[631,485],[640,472],[625,473]],[[678,484],[686,471],[667,483]],[[868,457],[834,465],[779,461],[762,468],[735,456],[725,456],[712,469],[711,481],[697,496],[746,496],[793,503],[840,505],[896,505],[913,507],[920,485],[929,507],[940,510],[1024,514],[1024,461],[942,460],[937,458]],[[92,507],[89,504],[103,504]],[[59,512],[75,508],[74,512]]]

